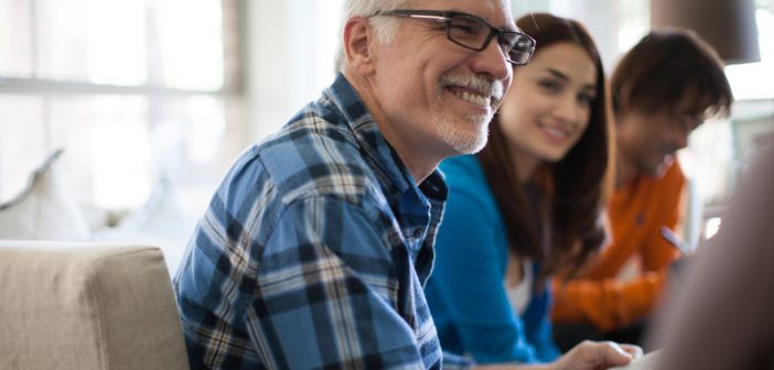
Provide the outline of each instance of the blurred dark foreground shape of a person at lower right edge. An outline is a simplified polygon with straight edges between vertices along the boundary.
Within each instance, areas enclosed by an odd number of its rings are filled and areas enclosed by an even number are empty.
[[[743,173],[651,340],[658,369],[774,369],[774,148]]]

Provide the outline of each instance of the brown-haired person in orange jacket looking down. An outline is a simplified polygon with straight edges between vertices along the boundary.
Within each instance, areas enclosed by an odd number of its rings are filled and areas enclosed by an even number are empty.
[[[638,342],[679,251],[686,179],[675,157],[707,118],[728,115],[733,95],[723,65],[697,34],[652,31],[619,63],[611,92],[615,184],[608,206],[611,241],[581,274],[555,281],[555,339]],[[623,275],[628,275],[624,278]]]

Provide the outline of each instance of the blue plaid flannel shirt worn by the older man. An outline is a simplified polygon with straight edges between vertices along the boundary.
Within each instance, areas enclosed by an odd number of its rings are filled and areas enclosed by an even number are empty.
[[[422,285],[445,196],[438,172],[415,185],[338,75],[200,220],[174,279],[192,368],[440,368]]]

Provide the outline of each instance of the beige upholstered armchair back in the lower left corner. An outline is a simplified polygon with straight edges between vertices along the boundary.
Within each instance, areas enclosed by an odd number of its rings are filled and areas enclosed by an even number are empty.
[[[0,241],[0,369],[187,369],[160,249]]]

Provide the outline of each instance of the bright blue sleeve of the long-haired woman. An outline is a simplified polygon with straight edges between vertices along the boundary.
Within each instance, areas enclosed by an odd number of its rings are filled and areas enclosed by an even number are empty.
[[[492,217],[474,195],[450,193],[429,282],[438,300],[431,309],[433,315],[443,311],[453,322],[462,351],[476,362],[536,362],[536,350],[505,292],[507,251],[495,244]]]

